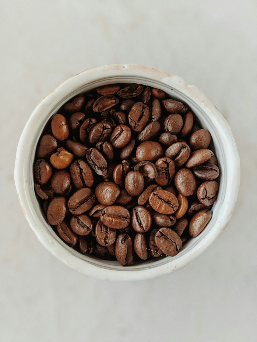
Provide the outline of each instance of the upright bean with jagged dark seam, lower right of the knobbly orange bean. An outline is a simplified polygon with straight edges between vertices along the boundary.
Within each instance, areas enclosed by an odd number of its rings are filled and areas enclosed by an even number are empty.
[[[91,187],[94,184],[93,171],[82,159],[75,160],[70,166],[72,182],[77,189],[85,186]]]

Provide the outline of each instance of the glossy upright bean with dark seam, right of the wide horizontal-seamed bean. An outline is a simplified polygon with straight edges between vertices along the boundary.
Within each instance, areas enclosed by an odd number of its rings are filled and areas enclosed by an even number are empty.
[[[149,211],[143,206],[136,206],[131,212],[131,225],[137,233],[149,231],[152,218]]]

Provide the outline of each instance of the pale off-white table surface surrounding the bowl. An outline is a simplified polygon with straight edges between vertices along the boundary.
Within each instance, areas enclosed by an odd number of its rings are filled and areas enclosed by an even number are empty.
[[[254,0],[1,2],[1,341],[256,341],[256,11]],[[198,86],[229,122],[241,157],[224,233],[184,269],[149,281],[100,281],[53,257],[13,181],[20,134],[41,98],[112,63]]]

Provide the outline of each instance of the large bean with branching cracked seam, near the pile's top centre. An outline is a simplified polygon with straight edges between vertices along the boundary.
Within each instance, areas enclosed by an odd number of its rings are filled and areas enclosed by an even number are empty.
[[[130,127],[137,133],[141,132],[146,127],[149,117],[149,107],[143,102],[135,103],[128,115]]]

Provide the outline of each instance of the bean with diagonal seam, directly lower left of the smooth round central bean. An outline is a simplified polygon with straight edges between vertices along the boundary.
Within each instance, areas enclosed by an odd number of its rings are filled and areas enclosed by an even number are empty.
[[[72,214],[79,215],[91,209],[96,197],[87,187],[78,189],[68,200],[67,206]]]

